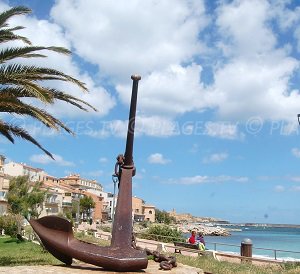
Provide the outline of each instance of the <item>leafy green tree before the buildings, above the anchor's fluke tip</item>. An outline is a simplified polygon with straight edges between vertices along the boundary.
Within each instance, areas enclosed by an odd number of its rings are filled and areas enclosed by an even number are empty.
[[[41,189],[42,183],[31,185],[28,176],[18,176],[10,180],[6,195],[9,212],[16,216],[18,234],[24,218],[38,217],[45,200],[46,190]]]

